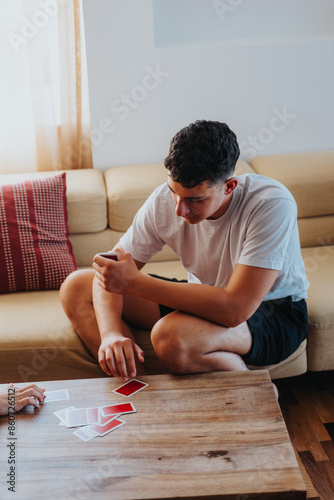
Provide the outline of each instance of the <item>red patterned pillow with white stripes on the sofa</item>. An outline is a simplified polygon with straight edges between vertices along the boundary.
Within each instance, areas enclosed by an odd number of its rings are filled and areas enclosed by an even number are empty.
[[[66,174],[0,186],[0,292],[58,289],[75,269]]]

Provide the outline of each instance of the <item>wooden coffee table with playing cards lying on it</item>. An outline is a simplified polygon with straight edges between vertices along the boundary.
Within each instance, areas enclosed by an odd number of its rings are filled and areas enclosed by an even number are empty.
[[[0,497],[70,499],[302,499],[293,448],[267,371],[142,376],[130,398],[113,378],[41,382],[70,399],[16,415],[15,442],[0,417]],[[4,385],[1,386],[3,389]],[[132,401],[137,413],[83,442],[54,411]],[[7,491],[11,443],[15,494]]]

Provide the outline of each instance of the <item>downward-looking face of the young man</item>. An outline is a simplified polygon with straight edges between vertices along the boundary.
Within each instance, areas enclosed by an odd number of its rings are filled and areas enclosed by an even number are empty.
[[[198,224],[205,219],[218,219],[227,210],[233,189],[226,189],[227,183],[212,185],[204,181],[193,188],[184,188],[168,175],[167,184],[171,190],[175,213],[189,224]],[[235,181],[237,183],[237,181]]]

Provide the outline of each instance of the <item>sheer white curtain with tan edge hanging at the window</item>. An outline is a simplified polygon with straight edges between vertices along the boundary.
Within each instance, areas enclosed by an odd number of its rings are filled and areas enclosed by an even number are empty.
[[[0,173],[92,167],[81,0],[0,9]]]

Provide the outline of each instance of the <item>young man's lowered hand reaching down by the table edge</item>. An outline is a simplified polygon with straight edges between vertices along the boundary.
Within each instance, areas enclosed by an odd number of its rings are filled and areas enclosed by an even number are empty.
[[[137,374],[136,358],[144,362],[144,351],[133,340],[121,334],[110,334],[102,339],[98,353],[99,363],[107,375],[121,377],[126,382]]]

